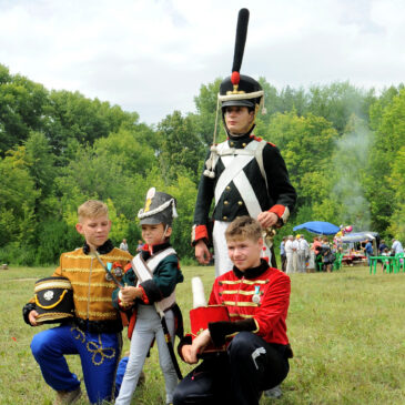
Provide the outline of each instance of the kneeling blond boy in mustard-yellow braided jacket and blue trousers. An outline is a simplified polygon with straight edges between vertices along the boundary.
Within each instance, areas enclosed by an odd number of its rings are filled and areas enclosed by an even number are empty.
[[[44,381],[57,391],[54,404],[71,404],[81,395],[80,381],[70,372],[64,355],[79,354],[90,403],[99,404],[112,397],[121,354],[122,322],[111,303],[115,285],[104,266],[114,263],[115,279],[120,280],[121,269],[132,256],[114,247],[109,240],[111,221],[103,202],[87,201],[79,206],[78,214],[75,227],[84,236],[84,245],[63,253],[52,274],[69,280],[73,290],[74,317],[38,333],[31,342],[32,354]],[[32,326],[40,324],[36,308],[34,298],[23,307],[24,321]]]

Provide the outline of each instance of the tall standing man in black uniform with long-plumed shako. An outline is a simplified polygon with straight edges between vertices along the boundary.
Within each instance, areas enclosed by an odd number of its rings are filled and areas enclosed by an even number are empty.
[[[249,11],[242,9],[236,30],[233,73],[220,87],[219,101],[227,140],[215,144],[214,139],[200,180],[194,213],[192,243],[195,256],[201,264],[207,264],[211,260],[209,215],[214,199],[212,242],[216,276],[232,269],[224,233],[235,217],[250,215],[260,222],[264,231],[269,231],[287,221],[296,200],[279,149],[253,135],[264,92],[256,80],[239,72],[247,20]],[[271,263],[275,266],[275,257],[269,249],[263,255],[273,256]]]

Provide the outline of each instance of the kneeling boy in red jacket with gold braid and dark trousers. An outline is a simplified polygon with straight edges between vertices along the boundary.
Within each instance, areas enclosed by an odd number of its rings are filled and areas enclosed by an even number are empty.
[[[174,405],[259,404],[261,393],[280,384],[290,369],[290,277],[261,259],[256,220],[236,219],[225,237],[233,270],[215,279],[209,305],[225,305],[232,322],[211,322],[193,341],[185,336],[179,354],[193,364],[209,343],[221,347],[233,337],[223,354],[205,358],[179,384]]]

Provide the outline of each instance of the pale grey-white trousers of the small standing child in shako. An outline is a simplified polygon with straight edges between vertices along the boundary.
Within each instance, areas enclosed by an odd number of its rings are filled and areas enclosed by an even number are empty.
[[[172,344],[174,344],[174,314],[171,310],[165,312],[165,318]],[[130,358],[128,361],[120,394],[115,399],[115,405],[131,404],[132,395],[136,389],[138,379],[153,337],[156,340],[159,363],[164,376],[166,403],[172,403],[173,392],[178,385],[178,375],[175,374],[169,348],[164,340],[160,316],[153,305],[138,305],[136,324],[131,338]]]

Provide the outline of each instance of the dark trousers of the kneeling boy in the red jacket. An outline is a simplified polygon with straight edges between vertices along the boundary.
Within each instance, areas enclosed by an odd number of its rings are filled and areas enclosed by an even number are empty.
[[[288,374],[284,351],[251,332],[240,332],[226,354],[204,360],[180,382],[173,404],[259,405],[262,392]]]

